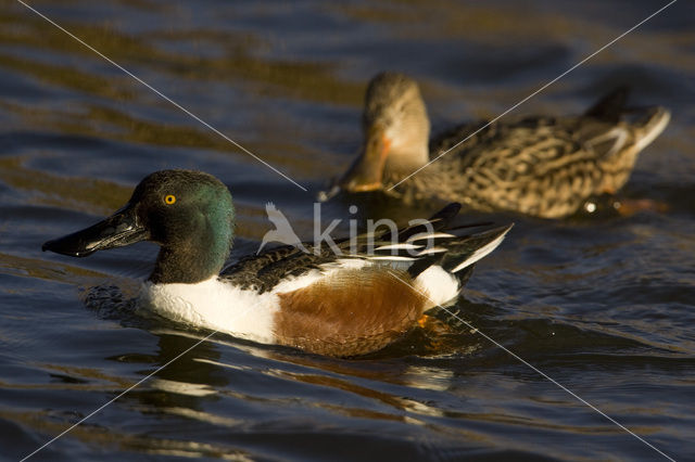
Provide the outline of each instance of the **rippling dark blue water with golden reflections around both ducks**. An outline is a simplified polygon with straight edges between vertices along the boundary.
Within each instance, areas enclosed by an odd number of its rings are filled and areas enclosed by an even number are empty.
[[[309,190],[303,192],[13,0],[0,5],[0,453],[27,455],[207,332],[138,316],[156,247],[70,259],[48,239],[153,170],[212,172],[235,256],[273,201],[308,236],[313,193],[359,143],[368,79],[421,82],[435,129],[494,117],[666,2],[33,1]],[[695,460],[695,9],[681,0],[515,113],[615,85],[672,111],[631,216],[516,221],[455,308],[675,460]],[[325,206],[326,220],[346,205]],[[407,219],[421,210],[381,205]],[[480,218],[480,217],[475,217]],[[489,217],[485,217],[488,219]],[[338,360],[215,335],[31,460],[666,460],[465,325]]]

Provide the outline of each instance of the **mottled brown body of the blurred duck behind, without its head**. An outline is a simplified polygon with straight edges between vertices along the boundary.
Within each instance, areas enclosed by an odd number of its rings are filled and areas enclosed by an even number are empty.
[[[431,152],[446,152],[482,129],[399,184],[395,194],[458,201],[482,211],[563,218],[590,197],[619,191],[640,151],[667,123],[668,113],[656,107],[639,126],[579,116],[457,127],[435,138]],[[396,178],[386,182],[387,189]]]

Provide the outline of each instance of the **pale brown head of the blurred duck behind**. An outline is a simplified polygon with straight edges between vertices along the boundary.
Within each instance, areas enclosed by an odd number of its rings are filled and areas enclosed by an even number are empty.
[[[374,191],[429,161],[430,121],[420,90],[409,77],[382,73],[371,79],[362,126],[362,152],[340,179],[341,190]]]

